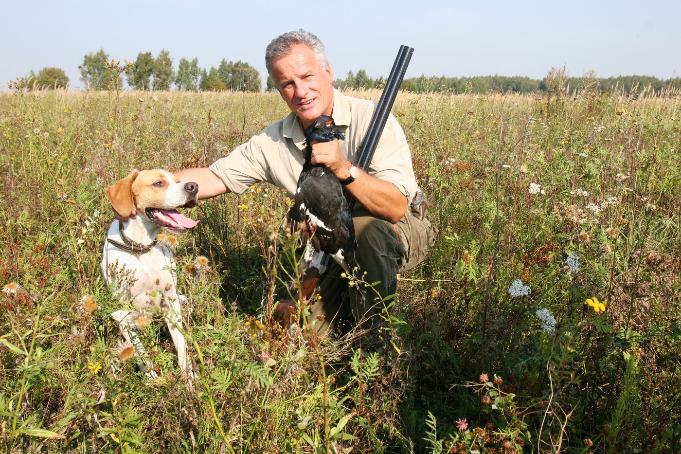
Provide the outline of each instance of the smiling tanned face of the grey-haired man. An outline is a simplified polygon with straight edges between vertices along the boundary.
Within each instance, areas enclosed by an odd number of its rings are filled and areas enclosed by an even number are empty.
[[[308,46],[296,44],[287,55],[274,60],[272,76],[282,99],[303,127],[311,125],[320,115],[332,114],[334,75],[329,65],[319,66]]]

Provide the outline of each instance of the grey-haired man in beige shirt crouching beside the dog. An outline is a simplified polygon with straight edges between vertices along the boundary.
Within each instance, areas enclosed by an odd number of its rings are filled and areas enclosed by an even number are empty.
[[[356,200],[353,222],[358,241],[356,257],[364,281],[380,282],[365,295],[350,288],[335,262],[320,284],[321,300],[312,307],[311,323],[320,335],[338,318],[353,318],[376,339],[385,297],[394,295],[397,275],[413,268],[432,244],[427,220],[412,215],[410,203],[418,187],[407,140],[390,116],[368,172],[353,166],[370,123],[375,103],[341,95],[321,41],[298,30],[276,37],[266,50],[266,67],[291,114],[266,127],[251,140],[208,168],[176,173],[182,181],[199,181],[199,198],[242,194],[268,181],[295,194],[304,161],[303,130],[320,115],[334,118],[345,140],[312,144],[312,164],[323,164]],[[420,192],[419,192],[420,195]],[[343,295],[342,297],[340,295]]]

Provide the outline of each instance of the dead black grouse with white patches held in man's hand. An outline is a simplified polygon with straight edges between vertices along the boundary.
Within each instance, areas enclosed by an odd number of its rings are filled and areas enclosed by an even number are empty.
[[[357,276],[355,260],[357,241],[355,226],[343,196],[343,185],[322,164],[313,165],[311,140],[330,142],[335,138],[345,139],[332,117],[322,115],[306,127],[306,147],[303,151],[305,162],[298,177],[294,206],[289,211],[292,224],[302,226],[303,245],[309,239],[315,251],[326,252],[340,264],[349,275]],[[304,267],[311,260],[312,250],[306,245]]]

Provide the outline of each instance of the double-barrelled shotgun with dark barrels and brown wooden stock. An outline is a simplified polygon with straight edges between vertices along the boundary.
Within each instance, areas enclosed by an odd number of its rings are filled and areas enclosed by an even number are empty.
[[[366,136],[362,139],[362,145],[360,145],[358,151],[355,166],[362,170],[366,170],[371,162],[371,158],[376,150],[376,145],[378,145],[379,138],[381,138],[381,134],[383,133],[385,122],[395,103],[397,93],[400,91],[402,80],[405,78],[405,72],[407,71],[407,66],[409,66],[409,60],[411,60],[413,52],[414,49],[409,46],[400,46],[395,63],[392,65],[392,70],[390,70],[390,75],[385,81],[385,88],[383,89],[383,93],[381,93],[381,100],[379,100],[376,110],[371,117]],[[355,206],[355,199],[349,195],[348,198],[349,209],[350,212],[352,212],[352,209]],[[320,260],[321,265],[311,265],[311,267],[308,268],[302,284],[300,285],[300,288],[298,288],[298,299],[280,300],[276,305],[277,321],[285,330],[288,329],[291,324],[291,315],[296,314],[298,310],[296,303],[298,301],[309,301],[333,260],[323,252],[319,252],[319,254],[323,255],[323,258]]]

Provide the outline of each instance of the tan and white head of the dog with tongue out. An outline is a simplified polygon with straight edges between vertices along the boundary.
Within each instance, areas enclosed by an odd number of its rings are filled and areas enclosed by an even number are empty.
[[[177,211],[196,205],[198,192],[197,183],[183,183],[170,172],[158,169],[131,172],[106,188],[106,196],[121,216],[129,217],[135,209],[138,215],[178,233],[198,224]]]

